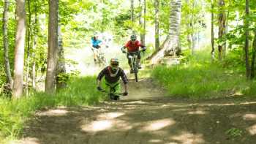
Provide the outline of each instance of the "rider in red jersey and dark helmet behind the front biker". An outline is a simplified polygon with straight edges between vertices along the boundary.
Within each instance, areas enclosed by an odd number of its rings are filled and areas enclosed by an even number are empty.
[[[140,41],[137,40],[137,37],[135,34],[133,34],[131,37],[130,37],[130,40],[127,42],[126,45],[124,45],[123,48],[121,48],[122,52],[123,53],[126,53],[126,51],[124,50],[125,48],[127,48],[127,59],[128,59],[128,64],[129,64],[129,67],[130,67],[130,72],[132,73],[133,72],[133,69],[132,69],[132,61],[129,59],[129,55],[131,52],[135,52],[137,53],[137,56],[138,56],[138,68],[141,69],[141,64],[140,64],[140,48],[142,48],[142,51],[145,51],[146,50],[146,47],[144,45],[141,45]]]

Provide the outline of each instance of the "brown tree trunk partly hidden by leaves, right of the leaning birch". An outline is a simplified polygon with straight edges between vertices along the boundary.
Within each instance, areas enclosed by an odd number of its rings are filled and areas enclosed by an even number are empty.
[[[224,0],[219,0],[219,39],[222,39],[222,37],[225,35],[225,29],[226,29],[226,14],[225,14],[225,1]],[[219,45],[218,50],[219,50],[219,60],[222,60],[222,56],[225,55],[223,53],[223,47],[225,45]]]

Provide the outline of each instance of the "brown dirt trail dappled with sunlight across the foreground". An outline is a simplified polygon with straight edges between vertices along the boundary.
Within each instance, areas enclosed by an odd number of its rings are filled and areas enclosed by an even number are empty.
[[[118,102],[37,113],[20,143],[256,143],[256,99],[161,97],[151,79],[132,82],[129,90]]]

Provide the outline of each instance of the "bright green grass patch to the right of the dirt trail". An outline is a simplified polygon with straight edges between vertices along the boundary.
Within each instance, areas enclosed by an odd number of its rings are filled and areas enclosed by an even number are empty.
[[[246,80],[242,66],[225,67],[211,62],[206,53],[187,56],[183,63],[173,67],[157,66],[151,72],[170,96],[214,98],[233,95],[256,95],[256,83]]]

